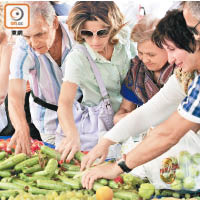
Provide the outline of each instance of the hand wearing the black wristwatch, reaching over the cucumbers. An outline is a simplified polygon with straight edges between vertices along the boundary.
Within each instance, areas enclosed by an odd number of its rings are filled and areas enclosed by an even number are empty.
[[[117,163],[105,163],[93,167],[82,176],[82,186],[86,189],[92,189],[94,181],[99,178],[114,179],[123,171]]]

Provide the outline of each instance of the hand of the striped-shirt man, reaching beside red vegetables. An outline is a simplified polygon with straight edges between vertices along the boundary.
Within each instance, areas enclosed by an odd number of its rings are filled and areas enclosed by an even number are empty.
[[[25,127],[20,130],[15,130],[7,149],[11,149],[15,146],[15,154],[25,153],[31,155],[31,137],[29,127]]]

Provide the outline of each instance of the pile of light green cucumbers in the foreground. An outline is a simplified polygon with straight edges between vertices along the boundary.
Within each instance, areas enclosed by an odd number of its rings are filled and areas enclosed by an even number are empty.
[[[75,159],[80,162],[83,155],[77,152]],[[95,200],[95,191],[105,185],[113,189],[113,200],[139,199],[138,186],[132,184],[132,180],[119,184],[113,180],[99,179],[92,190],[83,189],[80,166],[73,161],[69,164],[59,164],[59,161],[60,154],[47,146],[41,146],[32,157],[23,153],[9,155],[0,152],[0,199]]]

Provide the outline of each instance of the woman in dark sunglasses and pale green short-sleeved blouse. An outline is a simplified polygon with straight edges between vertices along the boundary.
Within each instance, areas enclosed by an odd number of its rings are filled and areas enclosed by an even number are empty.
[[[79,43],[79,48],[73,49],[66,61],[58,105],[59,122],[63,133],[57,134],[57,147],[62,153],[62,159],[67,157],[67,160],[71,160],[78,150],[90,150],[99,139],[98,130],[93,133],[85,131],[81,134],[83,128],[78,130],[78,122],[74,120],[77,111],[73,112],[73,104],[78,87],[83,93],[81,105],[93,107],[95,110],[104,99],[89,60],[92,60],[99,71],[105,86],[104,92],[107,90],[106,98],[110,100],[108,107],[111,106],[116,112],[122,100],[121,84],[135,51],[130,42],[128,27],[125,27],[124,17],[112,1],[76,2],[69,13],[68,26]],[[81,49],[85,49],[89,56]],[[104,115],[106,116],[106,113]],[[112,123],[113,116],[110,120]],[[102,124],[96,121],[93,125],[98,129]],[[86,128],[90,128],[88,126]]]

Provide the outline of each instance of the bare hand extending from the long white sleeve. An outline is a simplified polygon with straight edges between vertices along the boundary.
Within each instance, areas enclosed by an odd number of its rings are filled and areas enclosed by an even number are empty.
[[[83,157],[81,162],[81,171],[85,168],[89,168],[97,158],[100,158],[98,164],[104,162],[108,155],[109,146],[110,144],[107,139],[101,139],[100,142]]]

